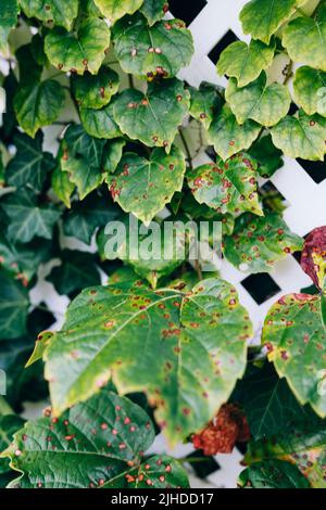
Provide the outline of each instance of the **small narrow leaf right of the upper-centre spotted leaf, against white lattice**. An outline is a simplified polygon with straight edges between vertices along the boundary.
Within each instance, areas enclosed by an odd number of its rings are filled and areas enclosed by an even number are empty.
[[[206,129],[210,128],[214,114],[220,112],[222,106],[222,91],[215,85],[201,82],[199,89],[189,88],[190,92],[190,115],[203,123]]]

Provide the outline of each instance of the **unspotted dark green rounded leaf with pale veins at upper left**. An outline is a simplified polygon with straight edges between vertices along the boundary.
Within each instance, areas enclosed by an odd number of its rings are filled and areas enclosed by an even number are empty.
[[[39,128],[57,120],[64,99],[64,90],[54,79],[18,87],[14,109],[24,131],[34,138]]]

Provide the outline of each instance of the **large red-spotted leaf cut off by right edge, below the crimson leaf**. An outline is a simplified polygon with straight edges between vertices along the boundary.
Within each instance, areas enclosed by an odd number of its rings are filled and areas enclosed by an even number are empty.
[[[268,359],[299,401],[309,403],[317,415],[326,417],[326,331],[319,301],[310,294],[278,299],[265,319],[262,342],[267,343]]]

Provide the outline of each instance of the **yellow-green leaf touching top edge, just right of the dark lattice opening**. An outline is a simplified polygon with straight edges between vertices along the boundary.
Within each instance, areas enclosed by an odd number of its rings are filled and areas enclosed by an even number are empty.
[[[251,0],[240,13],[243,33],[268,44],[272,35],[301,3],[302,0]]]

